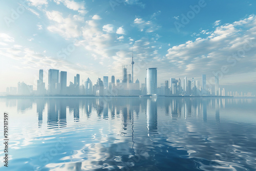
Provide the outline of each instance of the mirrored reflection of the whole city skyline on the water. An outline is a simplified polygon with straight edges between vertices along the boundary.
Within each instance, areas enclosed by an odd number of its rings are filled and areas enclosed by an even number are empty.
[[[252,102],[252,99],[247,99]],[[39,99],[6,99],[6,106],[17,106],[17,112],[25,113],[36,104],[38,127],[44,122],[43,113],[47,111],[47,125],[49,129],[67,126],[67,114],[73,115],[73,121],[78,122],[81,113],[90,118],[93,110],[99,119],[115,119],[121,117],[123,130],[130,124],[134,115],[139,118],[140,113],[145,113],[148,131],[157,130],[158,108],[165,116],[170,118],[202,117],[207,122],[207,108],[215,109],[215,119],[220,122],[220,110],[230,104],[241,106],[244,99],[124,99],[124,98],[39,98]],[[68,111],[67,111],[68,110]]]

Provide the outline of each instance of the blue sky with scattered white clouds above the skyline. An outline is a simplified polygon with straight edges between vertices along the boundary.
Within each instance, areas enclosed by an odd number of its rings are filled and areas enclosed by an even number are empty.
[[[77,73],[93,83],[103,76],[121,79],[132,50],[134,78],[141,82],[147,67],[157,67],[159,85],[170,77],[201,81],[202,74],[211,82],[218,73],[226,91],[255,92],[255,5],[209,0],[2,1],[0,92],[18,81],[36,89],[39,69],[45,70],[46,83],[50,68],[68,71],[68,81]]]

